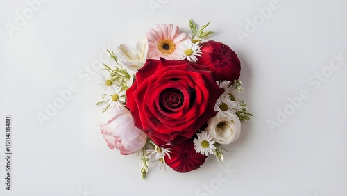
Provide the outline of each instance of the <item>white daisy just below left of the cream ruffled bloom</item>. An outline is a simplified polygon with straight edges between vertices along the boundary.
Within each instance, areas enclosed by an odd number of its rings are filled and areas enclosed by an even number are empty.
[[[213,154],[216,147],[214,146],[214,140],[210,133],[206,131],[201,131],[201,133],[196,134],[198,138],[194,138],[194,149],[196,153],[208,156],[208,154]]]

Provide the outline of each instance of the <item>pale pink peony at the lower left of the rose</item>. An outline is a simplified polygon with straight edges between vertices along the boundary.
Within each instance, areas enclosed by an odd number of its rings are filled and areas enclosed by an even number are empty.
[[[131,113],[124,106],[108,108],[101,116],[101,133],[110,149],[121,154],[133,154],[146,144],[146,134],[134,126]]]

